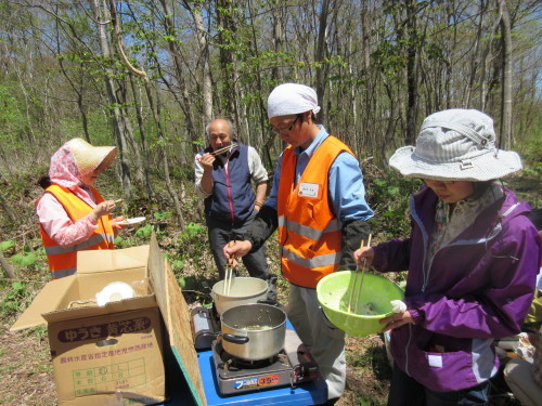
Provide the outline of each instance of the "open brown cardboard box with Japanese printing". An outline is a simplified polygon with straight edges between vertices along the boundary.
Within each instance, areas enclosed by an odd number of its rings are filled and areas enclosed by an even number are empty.
[[[48,325],[59,404],[134,405],[166,398],[163,319],[149,265],[156,258],[162,259],[157,244],[81,251],[78,274],[47,284],[11,327]],[[154,271],[164,272],[164,265],[158,267]],[[113,281],[131,285],[137,296],[98,306],[95,293]]]

